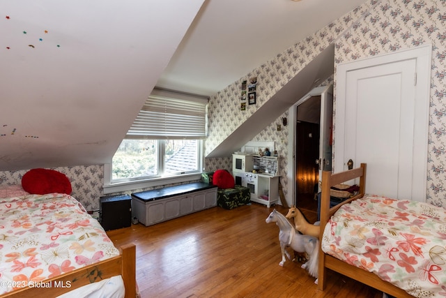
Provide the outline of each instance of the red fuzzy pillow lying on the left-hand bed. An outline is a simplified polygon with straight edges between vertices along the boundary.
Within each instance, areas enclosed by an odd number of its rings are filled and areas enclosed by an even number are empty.
[[[22,177],[22,187],[29,193],[45,195],[45,193],[72,192],[70,179],[65,174],[49,169],[33,169]]]

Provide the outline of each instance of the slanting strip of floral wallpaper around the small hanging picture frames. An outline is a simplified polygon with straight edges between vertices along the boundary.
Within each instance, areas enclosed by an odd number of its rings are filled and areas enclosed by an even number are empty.
[[[209,127],[206,140],[206,154],[215,149],[226,137],[248,119],[256,110],[277,93],[286,83],[297,75],[312,59],[332,44],[341,33],[353,26],[367,13],[376,1],[367,2],[360,8],[348,13],[345,17],[329,24],[312,36],[293,45],[274,59],[266,62],[248,73],[240,80],[233,82],[222,91],[210,97]],[[290,34],[292,31],[290,31]],[[257,77],[259,86],[256,89],[256,105],[249,105],[240,110],[240,85],[249,77]],[[222,117],[225,115],[225,117]]]

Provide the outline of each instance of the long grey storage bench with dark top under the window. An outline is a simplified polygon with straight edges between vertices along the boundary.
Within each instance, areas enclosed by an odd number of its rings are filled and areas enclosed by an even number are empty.
[[[146,226],[217,206],[217,186],[196,182],[132,193],[132,217]]]

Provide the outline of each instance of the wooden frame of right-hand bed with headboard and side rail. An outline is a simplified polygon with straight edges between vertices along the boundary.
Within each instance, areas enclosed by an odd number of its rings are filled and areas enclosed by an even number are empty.
[[[322,173],[322,193],[321,193],[321,234],[319,235],[319,241],[322,243],[323,230],[325,225],[328,223],[330,217],[334,214],[334,212],[339,209],[343,204],[348,204],[353,200],[358,198],[362,198],[365,193],[365,180],[366,180],[366,170],[367,165],[365,163],[361,163],[360,167],[357,167],[353,170],[348,170],[344,172],[339,172],[336,174],[332,174],[331,171],[324,171]],[[360,178],[360,191],[357,195],[349,198],[348,200],[337,204],[336,206],[330,208],[330,188],[336,184],[341,184],[345,181],[349,181],[351,179]],[[318,289],[325,289],[325,277],[326,277],[326,269],[331,269],[332,271],[336,271],[344,276],[348,276],[349,278],[353,278],[355,281],[359,281],[366,285],[371,286],[372,288],[376,288],[380,291],[387,293],[388,295],[392,295],[394,297],[413,297],[408,294],[405,290],[401,290],[397,288],[392,283],[388,283],[387,281],[383,281],[376,274],[371,273],[369,271],[365,271],[364,269],[357,268],[352,265],[348,265],[346,262],[338,260],[337,258],[332,257],[331,255],[327,255],[323,253],[322,248],[319,247],[319,267],[318,267]]]

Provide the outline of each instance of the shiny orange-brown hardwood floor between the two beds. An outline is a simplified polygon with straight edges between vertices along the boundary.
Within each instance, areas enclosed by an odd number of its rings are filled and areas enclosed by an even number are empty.
[[[282,214],[288,211],[275,208]],[[143,298],[382,297],[332,271],[322,292],[300,263],[287,260],[280,267],[279,228],[265,222],[272,209],[256,203],[232,210],[214,207],[107,234],[116,246],[137,245],[137,283]]]

